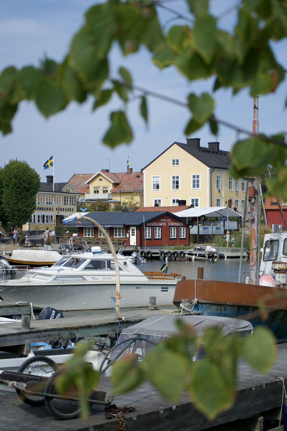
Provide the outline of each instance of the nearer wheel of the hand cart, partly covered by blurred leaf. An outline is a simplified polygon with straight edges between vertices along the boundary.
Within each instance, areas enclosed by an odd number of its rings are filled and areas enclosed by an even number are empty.
[[[62,370],[56,371],[47,381],[45,393],[51,394],[51,396],[45,396],[45,406],[57,419],[75,419],[79,416],[81,411],[79,401],[52,397],[52,395],[59,395],[54,383],[55,379],[61,375],[62,372]]]

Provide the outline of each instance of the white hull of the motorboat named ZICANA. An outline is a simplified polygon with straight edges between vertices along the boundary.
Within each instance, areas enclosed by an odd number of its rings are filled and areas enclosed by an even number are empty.
[[[173,304],[176,280],[148,280],[120,284],[120,308],[148,306],[149,297],[156,297],[158,306]],[[116,294],[115,283],[15,283],[0,287],[0,297],[8,301],[31,302],[34,307],[66,310],[109,309]]]

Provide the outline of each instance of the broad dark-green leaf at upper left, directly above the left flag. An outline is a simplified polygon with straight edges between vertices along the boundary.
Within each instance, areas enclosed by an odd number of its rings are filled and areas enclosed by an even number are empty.
[[[42,77],[35,87],[35,102],[45,117],[65,108],[68,100],[63,88],[55,81]]]

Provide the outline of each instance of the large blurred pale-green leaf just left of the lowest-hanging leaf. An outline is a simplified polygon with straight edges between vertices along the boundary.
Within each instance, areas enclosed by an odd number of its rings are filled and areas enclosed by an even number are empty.
[[[176,403],[184,387],[187,362],[182,356],[168,351],[165,344],[154,347],[142,361],[145,377],[158,392]]]

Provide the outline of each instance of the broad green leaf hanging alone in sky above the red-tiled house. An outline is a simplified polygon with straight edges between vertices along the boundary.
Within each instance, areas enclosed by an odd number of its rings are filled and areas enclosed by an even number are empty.
[[[111,127],[103,138],[103,143],[110,147],[115,147],[118,144],[129,144],[133,139],[133,133],[130,125],[127,122],[125,113],[122,111],[111,113]]]

